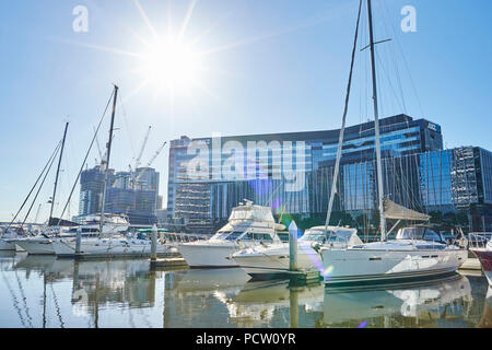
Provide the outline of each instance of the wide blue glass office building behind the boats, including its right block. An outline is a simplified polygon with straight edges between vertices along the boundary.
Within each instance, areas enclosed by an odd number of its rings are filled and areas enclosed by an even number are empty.
[[[172,140],[167,214],[208,230],[243,199],[272,206],[274,213],[326,213],[339,133]],[[490,180],[477,178],[482,163],[490,177],[489,153],[480,151],[477,164],[473,148],[471,153],[470,148],[443,151],[438,125],[407,115],[384,118],[380,142],[385,194],[394,201],[421,211],[456,210],[478,202],[482,183],[483,196],[490,197]],[[353,214],[374,210],[375,170],[374,122],[345,128],[335,209]]]

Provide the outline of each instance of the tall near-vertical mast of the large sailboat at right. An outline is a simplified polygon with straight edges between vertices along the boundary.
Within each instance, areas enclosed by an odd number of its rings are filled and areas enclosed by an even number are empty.
[[[371,47],[371,71],[373,78],[373,102],[374,102],[374,130],[376,139],[376,166],[377,166],[377,191],[379,203],[379,229],[380,241],[386,240],[386,218],[385,208],[383,203],[384,188],[383,188],[383,168],[380,161],[380,141],[379,141],[379,112],[377,108],[377,77],[376,77],[376,60],[374,57],[374,31],[373,31],[373,11],[371,0],[367,0],[367,16],[368,16],[368,32],[370,32],[370,47]]]

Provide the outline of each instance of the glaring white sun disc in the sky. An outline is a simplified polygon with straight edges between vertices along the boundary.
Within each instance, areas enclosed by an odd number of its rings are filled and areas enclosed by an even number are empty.
[[[141,55],[139,70],[154,89],[184,90],[200,80],[202,60],[190,45],[168,37],[148,46],[148,50]]]

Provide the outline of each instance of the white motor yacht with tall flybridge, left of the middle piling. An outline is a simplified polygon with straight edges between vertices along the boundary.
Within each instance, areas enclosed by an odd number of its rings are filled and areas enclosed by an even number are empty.
[[[227,224],[210,240],[179,244],[178,249],[191,268],[238,267],[230,258],[232,254],[250,246],[280,243],[276,232],[284,229],[274,222],[270,207],[246,201],[233,208]]]

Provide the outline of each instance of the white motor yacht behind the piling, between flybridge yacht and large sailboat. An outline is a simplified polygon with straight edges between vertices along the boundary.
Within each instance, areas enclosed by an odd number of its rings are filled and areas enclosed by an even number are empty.
[[[331,248],[359,244],[362,244],[362,241],[355,229],[341,226],[308,229],[298,238],[297,268],[305,271],[323,271],[323,261],[319,255],[321,246]],[[232,255],[232,258],[254,279],[288,277],[289,257],[289,243],[279,243],[267,247],[254,246]]]

